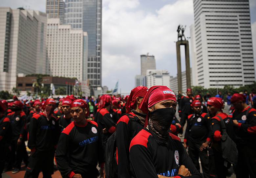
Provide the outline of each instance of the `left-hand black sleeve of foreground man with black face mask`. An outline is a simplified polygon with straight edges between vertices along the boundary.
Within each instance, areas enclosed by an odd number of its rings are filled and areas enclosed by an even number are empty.
[[[130,169],[134,177],[158,178],[151,153],[142,145],[134,145],[130,149]]]

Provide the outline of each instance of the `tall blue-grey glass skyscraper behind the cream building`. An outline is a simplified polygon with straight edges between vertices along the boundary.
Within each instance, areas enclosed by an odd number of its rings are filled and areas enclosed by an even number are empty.
[[[101,86],[102,0],[66,0],[65,23],[88,33],[88,76],[90,86]]]

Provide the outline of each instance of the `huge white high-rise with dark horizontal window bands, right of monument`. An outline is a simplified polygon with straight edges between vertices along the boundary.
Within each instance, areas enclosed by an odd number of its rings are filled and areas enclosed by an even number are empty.
[[[255,81],[249,0],[194,0],[190,27],[194,85],[239,87]]]

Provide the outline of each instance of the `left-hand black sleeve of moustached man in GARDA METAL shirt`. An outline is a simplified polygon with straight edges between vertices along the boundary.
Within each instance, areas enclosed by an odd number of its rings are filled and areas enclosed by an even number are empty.
[[[62,177],[69,177],[68,175],[73,172],[68,163],[69,144],[69,135],[61,133],[55,158]]]

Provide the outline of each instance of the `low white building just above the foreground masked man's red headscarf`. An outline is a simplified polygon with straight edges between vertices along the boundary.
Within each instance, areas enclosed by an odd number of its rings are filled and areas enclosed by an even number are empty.
[[[155,85],[170,86],[170,75],[167,70],[147,70],[146,74],[148,88]]]

